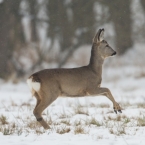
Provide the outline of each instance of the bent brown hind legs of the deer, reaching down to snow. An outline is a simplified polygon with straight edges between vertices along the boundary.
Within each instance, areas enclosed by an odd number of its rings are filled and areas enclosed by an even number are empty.
[[[42,91],[38,92],[40,100],[37,99],[36,107],[33,111],[34,116],[36,117],[37,121],[45,128],[49,129],[49,125],[42,117],[42,112],[54,101],[56,100],[57,96],[53,94],[45,95]]]

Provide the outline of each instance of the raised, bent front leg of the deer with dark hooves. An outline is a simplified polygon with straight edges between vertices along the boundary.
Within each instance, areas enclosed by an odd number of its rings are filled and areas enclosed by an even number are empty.
[[[117,113],[117,111],[118,111],[119,113],[122,113],[122,111],[121,111],[122,108],[115,101],[114,97],[112,96],[112,94],[108,88],[97,88],[97,89],[91,90],[89,93],[90,93],[90,95],[106,96],[108,99],[110,99],[112,101],[114,112]]]

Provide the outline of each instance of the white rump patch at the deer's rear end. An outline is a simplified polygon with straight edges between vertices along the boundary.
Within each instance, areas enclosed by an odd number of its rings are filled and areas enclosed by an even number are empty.
[[[41,84],[39,82],[33,82],[32,78],[27,79],[27,84],[32,92],[33,90],[36,92],[40,90]]]

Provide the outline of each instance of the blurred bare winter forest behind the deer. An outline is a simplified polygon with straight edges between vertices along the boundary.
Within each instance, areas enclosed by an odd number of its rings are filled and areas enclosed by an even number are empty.
[[[0,78],[63,67],[99,28],[121,57],[145,40],[144,17],[145,0],[0,0]]]

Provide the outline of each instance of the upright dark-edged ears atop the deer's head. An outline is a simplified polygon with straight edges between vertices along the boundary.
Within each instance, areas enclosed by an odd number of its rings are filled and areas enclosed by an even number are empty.
[[[93,43],[98,43],[104,40],[104,29],[99,29],[95,37],[93,38]]]

